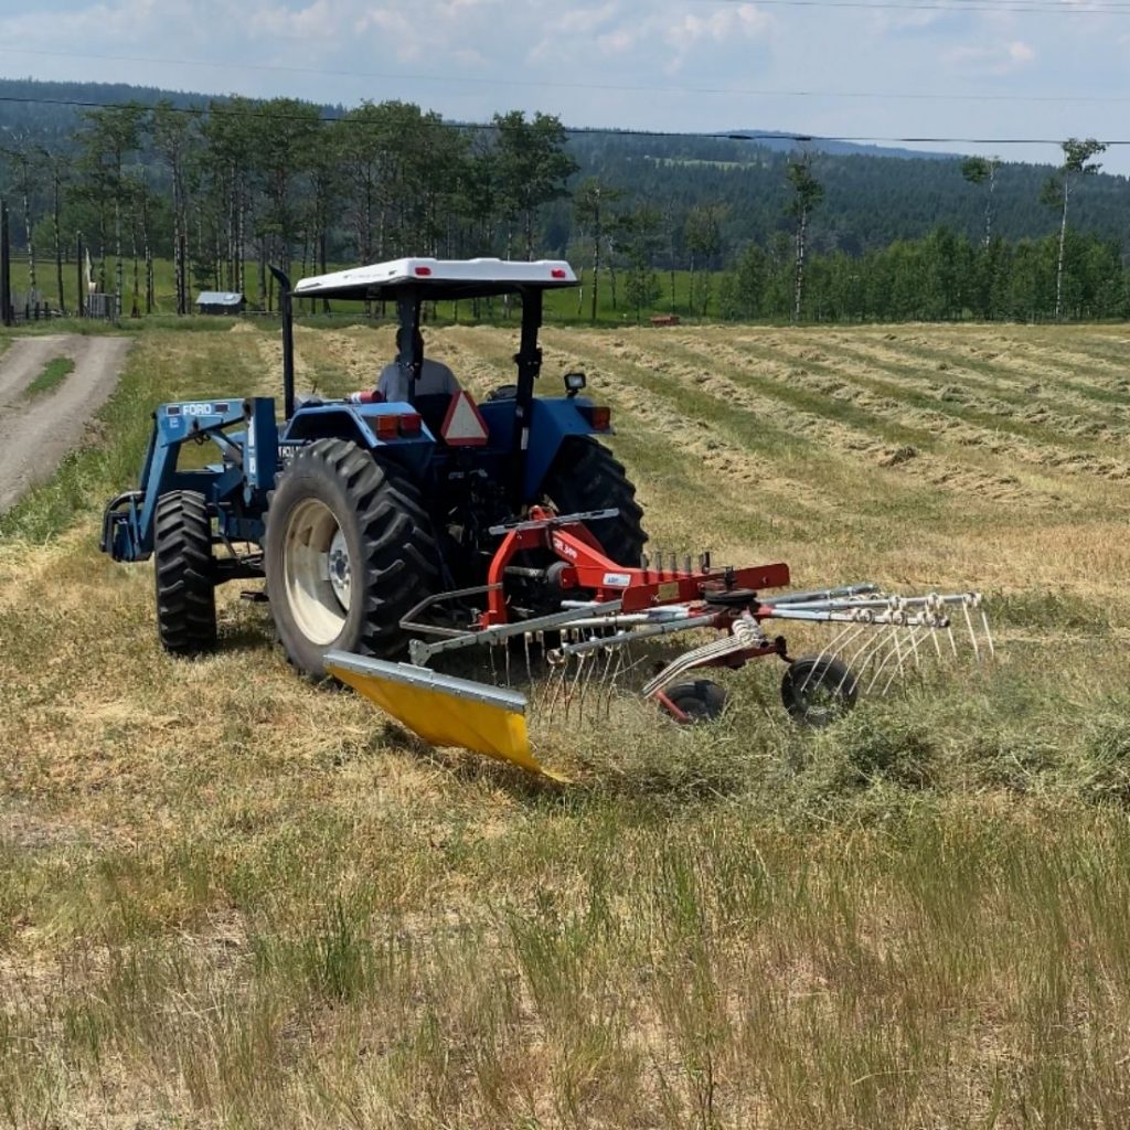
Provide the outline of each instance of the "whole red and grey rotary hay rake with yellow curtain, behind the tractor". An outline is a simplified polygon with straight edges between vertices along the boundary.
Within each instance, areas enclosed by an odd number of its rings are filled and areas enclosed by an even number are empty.
[[[610,711],[617,690],[633,690],[679,722],[715,716],[724,692],[709,680],[678,681],[702,668],[741,668],[753,659],[776,655],[786,664],[782,698],[790,714],[810,725],[825,725],[849,710],[860,693],[886,694],[909,666],[928,655],[957,654],[968,636],[977,659],[994,654],[989,621],[979,593],[898,596],[875,584],[763,598],[766,589],[789,584],[788,565],[716,568],[704,554],[693,567],[662,554],[640,567],[607,558],[585,523],[617,516],[605,510],[557,515],[533,507],[529,519],[490,532],[502,538],[488,583],[441,593],[423,601],[401,621],[411,636],[411,662],[392,663],[341,651],[325,655],[325,669],[354,687],[393,719],[433,746],[455,746],[556,777],[534,756],[527,728],[530,698],[513,689],[513,644],[523,645],[527,680],[533,683],[531,655],[544,657],[549,678],[536,698],[550,716],[596,704]],[[520,554],[551,555],[545,568],[515,564]],[[529,559],[527,557],[525,559]],[[514,620],[505,580],[536,580],[559,610]],[[485,598],[486,608],[467,627],[427,621],[424,614],[445,605],[467,607]],[[964,623],[955,635],[951,612]],[[792,620],[843,625],[816,655],[794,659],[783,636],[770,637],[763,624]],[[649,641],[688,632],[722,633],[719,638],[677,655],[642,686],[632,676],[644,659],[635,655]],[[941,637],[948,646],[942,647]],[[931,647],[932,645],[932,647]],[[436,659],[469,649],[503,654],[505,687],[444,675]],[[843,658],[842,658],[843,657]],[[559,777],[556,777],[560,780]]]

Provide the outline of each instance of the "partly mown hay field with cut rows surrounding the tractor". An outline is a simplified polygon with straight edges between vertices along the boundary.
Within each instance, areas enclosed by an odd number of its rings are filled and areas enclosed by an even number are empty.
[[[1001,651],[818,737],[755,667],[712,728],[545,734],[559,788],[299,683],[235,591],[160,653],[97,520],[155,401],[277,390],[229,325],[142,331],[0,518],[0,1124],[1125,1125],[1130,330],[548,330],[655,545],[980,588]],[[338,393],[392,333],[297,345]]]

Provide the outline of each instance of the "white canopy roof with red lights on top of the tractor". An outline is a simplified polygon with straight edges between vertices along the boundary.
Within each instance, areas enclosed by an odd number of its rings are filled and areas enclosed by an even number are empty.
[[[416,292],[431,302],[576,285],[573,268],[560,259],[541,259],[533,263],[502,259],[394,259],[302,279],[294,295],[394,301],[408,292]]]

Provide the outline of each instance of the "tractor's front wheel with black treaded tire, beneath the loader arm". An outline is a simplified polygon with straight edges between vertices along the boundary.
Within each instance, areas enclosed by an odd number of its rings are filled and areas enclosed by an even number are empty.
[[[198,655],[216,646],[211,519],[202,494],[172,490],[154,521],[157,634],[165,651]]]

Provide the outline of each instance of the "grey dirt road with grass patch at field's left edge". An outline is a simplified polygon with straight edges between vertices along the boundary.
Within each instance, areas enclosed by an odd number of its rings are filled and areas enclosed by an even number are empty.
[[[0,357],[0,513],[82,440],[118,383],[130,344],[77,334],[19,338]],[[53,357],[72,358],[75,371],[52,392],[27,397]]]

